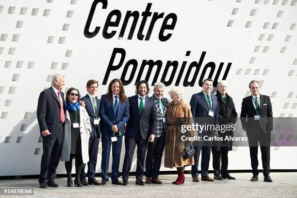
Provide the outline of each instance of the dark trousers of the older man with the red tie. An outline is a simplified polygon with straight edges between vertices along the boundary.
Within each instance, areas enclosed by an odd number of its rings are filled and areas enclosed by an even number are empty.
[[[49,131],[50,132],[50,131]],[[40,163],[39,183],[53,181],[56,178],[56,169],[60,162],[64,140],[64,123],[59,123],[57,138],[42,137],[43,153]]]

